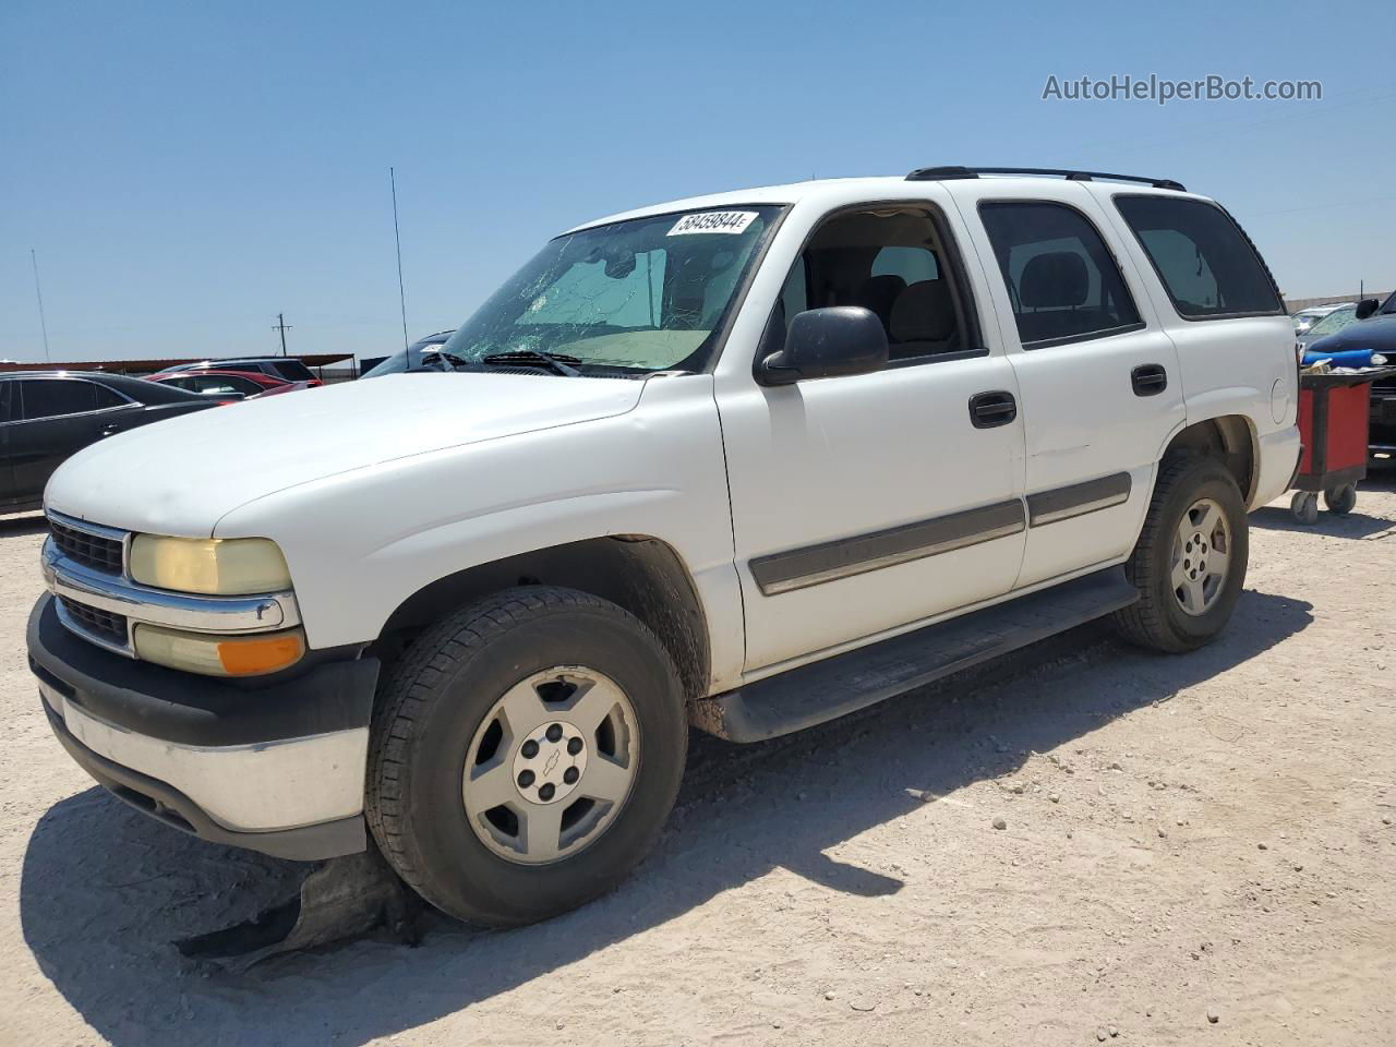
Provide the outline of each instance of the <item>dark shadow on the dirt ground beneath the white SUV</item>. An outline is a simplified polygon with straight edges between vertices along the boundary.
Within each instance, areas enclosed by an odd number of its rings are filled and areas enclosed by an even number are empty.
[[[1304,630],[1311,610],[1247,591],[1226,637],[1184,658],[1087,625],[789,738],[738,747],[695,734],[660,846],[607,898],[515,931],[433,917],[416,948],[359,940],[244,974],[191,965],[170,941],[250,917],[304,867],[201,843],[92,789],[53,805],[29,839],[24,937],[54,987],[119,1047],[362,1044],[554,974],[778,867],[852,895],[895,893],[896,866],[860,868],[825,852],[923,796],[1011,775],[1032,752],[1244,663]],[[588,981],[577,984],[582,995],[553,995],[581,1016]],[[592,988],[597,1005],[611,993]]]

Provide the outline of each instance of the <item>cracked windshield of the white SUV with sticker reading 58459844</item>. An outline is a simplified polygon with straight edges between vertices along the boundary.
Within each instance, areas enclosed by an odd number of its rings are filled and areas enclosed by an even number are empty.
[[[778,212],[692,211],[560,236],[441,346],[440,363],[433,355],[426,366],[611,376],[701,370]],[[420,367],[420,353],[410,364],[402,353],[381,364]]]

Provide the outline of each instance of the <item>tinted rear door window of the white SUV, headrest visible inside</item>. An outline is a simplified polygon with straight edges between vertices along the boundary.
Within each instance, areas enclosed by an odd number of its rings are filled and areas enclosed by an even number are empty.
[[[980,204],[980,218],[1025,349],[1142,327],[1124,276],[1096,228],[1065,204]]]

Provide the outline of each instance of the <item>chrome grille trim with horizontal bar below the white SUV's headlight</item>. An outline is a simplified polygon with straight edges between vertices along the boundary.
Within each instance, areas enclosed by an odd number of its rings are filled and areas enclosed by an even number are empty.
[[[130,533],[114,528],[49,514],[64,528],[81,530],[110,542],[130,546]],[[265,596],[195,596],[166,589],[152,589],[130,577],[123,556],[120,574],[101,571],[64,556],[50,537],[43,543],[43,584],[57,600],[59,620],[64,628],[91,644],[126,658],[135,658],[131,630],[138,624],[165,625],[190,632],[219,632],[228,635],[269,632],[300,624],[300,607],[292,592]],[[124,618],[120,631],[99,631],[81,621],[64,600],[92,607],[105,614]]]

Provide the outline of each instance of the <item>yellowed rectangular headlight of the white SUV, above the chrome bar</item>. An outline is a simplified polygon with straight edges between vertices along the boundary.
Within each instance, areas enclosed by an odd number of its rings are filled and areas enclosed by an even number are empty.
[[[290,588],[286,557],[265,537],[158,537],[131,540],[131,578],[156,589],[215,596]]]

